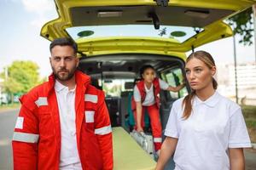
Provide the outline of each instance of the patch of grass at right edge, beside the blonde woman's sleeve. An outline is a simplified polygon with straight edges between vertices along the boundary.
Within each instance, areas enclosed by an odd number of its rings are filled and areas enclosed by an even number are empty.
[[[250,139],[253,143],[256,143],[256,106],[242,105],[241,110],[247,123]]]

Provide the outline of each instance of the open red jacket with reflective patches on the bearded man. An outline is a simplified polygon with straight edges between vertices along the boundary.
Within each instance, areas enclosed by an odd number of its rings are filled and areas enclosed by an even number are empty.
[[[83,169],[113,169],[112,130],[105,96],[90,85],[90,77],[76,71],[76,133]],[[13,137],[15,170],[58,170],[61,125],[55,77],[21,97]]]

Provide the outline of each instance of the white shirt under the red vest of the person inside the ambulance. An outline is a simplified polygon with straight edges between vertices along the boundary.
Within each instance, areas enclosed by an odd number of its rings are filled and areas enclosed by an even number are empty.
[[[160,78],[159,78],[159,84],[160,84],[160,89],[166,90],[167,88],[169,88],[169,85],[167,84],[167,82],[162,81]],[[144,88],[146,91],[146,97],[143,101],[143,106],[154,105],[155,100],[154,100],[153,83],[149,89],[146,87],[146,84],[144,84]],[[136,102],[140,102],[142,100],[141,94],[137,86],[134,87],[133,97]]]

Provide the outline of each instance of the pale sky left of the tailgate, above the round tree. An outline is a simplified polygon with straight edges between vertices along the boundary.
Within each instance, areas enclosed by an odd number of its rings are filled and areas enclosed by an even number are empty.
[[[49,41],[40,37],[40,30],[57,18],[53,1],[1,0],[0,11],[0,71],[20,59],[35,61],[40,75],[49,75]]]

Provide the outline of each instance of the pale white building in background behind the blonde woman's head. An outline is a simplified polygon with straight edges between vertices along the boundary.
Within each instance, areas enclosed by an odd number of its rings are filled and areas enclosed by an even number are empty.
[[[234,64],[217,65],[218,92],[236,101]],[[256,105],[256,64],[238,64],[236,67],[239,103]]]

